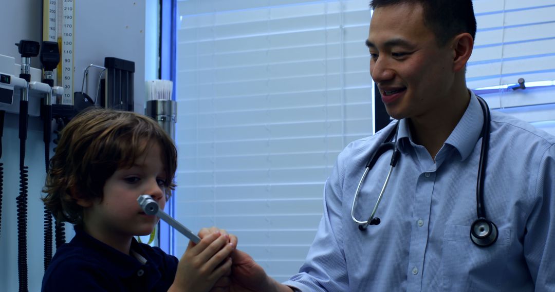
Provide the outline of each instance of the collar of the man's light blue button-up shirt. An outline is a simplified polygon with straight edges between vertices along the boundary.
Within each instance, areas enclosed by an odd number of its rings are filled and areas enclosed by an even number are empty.
[[[451,145],[453,148],[457,149],[458,153],[461,155],[461,161],[465,160],[468,155],[472,153],[476,142],[480,138],[484,120],[480,102],[478,102],[474,92],[470,90],[469,92],[471,97],[468,107],[460,121],[458,121],[455,129],[453,129],[445,141],[445,144]],[[408,147],[412,147],[410,128],[408,127],[407,119],[401,119],[398,131],[397,148],[402,154],[407,154]]]

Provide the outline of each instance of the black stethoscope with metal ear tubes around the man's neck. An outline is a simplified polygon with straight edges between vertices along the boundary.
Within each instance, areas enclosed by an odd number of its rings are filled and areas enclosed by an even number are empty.
[[[484,206],[484,199],[483,199],[483,189],[484,189],[484,178],[485,178],[485,169],[487,163],[487,152],[488,152],[488,144],[490,143],[490,109],[487,106],[486,101],[484,101],[481,97],[477,96],[478,101],[480,102],[480,106],[482,107],[482,112],[484,116],[484,123],[482,126],[482,147],[480,152],[480,164],[478,165],[478,180],[476,182],[476,213],[477,219],[472,223],[470,227],[470,239],[473,243],[477,246],[487,247],[493,244],[497,240],[497,226],[491,222],[490,220],[486,219],[486,208]],[[369,225],[379,225],[380,218],[375,217],[376,210],[380,205],[380,201],[384,196],[385,189],[387,187],[387,183],[391,177],[391,173],[395,165],[397,165],[397,161],[400,157],[400,152],[397,149],[396,141],[397,141],[397,133],[399,128],[399,122],[395,124],[390,134],[387,135],[387,138],[384,140],[384,143],[380,144],[377,150],[370,156],[368,162],[366,163],[366,169],[364,170],[364,174],[362,174],[362,178],[359,181],[359,185],[356,187],[355,191],[355,199],[352,201],[351,207],[351,218],[355,223],[359,225],[360,230],[366,230]],[[395,142],[392,142],[393,135],[395,135]],[[366,221],[359,221],[355,218],[355,206],[356,206],[356,197],[359,195],[360,188],[362,186],[362,182],[366,178],[366,175],[372,169],[376,161],[382,154],[387,152],[388,150],[393,150],[391,154],[391,161],[390,161],[390,169],[387,173],[387,177],[384,182],[384,186],[380,191],[380,195],[376,201],[376,205],[374,205],[374,209],[372,209],[372,213],[368,220]]]

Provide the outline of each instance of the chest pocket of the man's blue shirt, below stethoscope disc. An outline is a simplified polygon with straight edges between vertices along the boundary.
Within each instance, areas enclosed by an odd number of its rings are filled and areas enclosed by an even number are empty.
[[[443,289],[499,291],[510,241],[511,229],[499,228],[495,243],[478,247],[470,239],[470,226],[446,225],[441,259]]]

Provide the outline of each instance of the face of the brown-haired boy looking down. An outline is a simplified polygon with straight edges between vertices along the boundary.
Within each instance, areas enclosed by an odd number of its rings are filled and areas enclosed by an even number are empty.
[[[96,199],[84,208],[85,229],[108,244],[149,234],[158,217],[145,215],[137,198],[143,194],[151,195],[163,210],[166,179],[160,146],[154,143],[131,168],[117,169],[106,180],[102,201]]]

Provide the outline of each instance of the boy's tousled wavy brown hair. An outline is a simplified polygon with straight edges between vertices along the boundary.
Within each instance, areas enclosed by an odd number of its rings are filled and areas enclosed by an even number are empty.
[[[166,199],[175,189],[177,150],[169,135],[153,119],[134,112],[90,108],[63,129],[50,160],[43,191],[44,205],[59,222],[82,224],[80,199],[102,199],[103,187],[118,168],[130,168],[153,143],[162,149]]]

